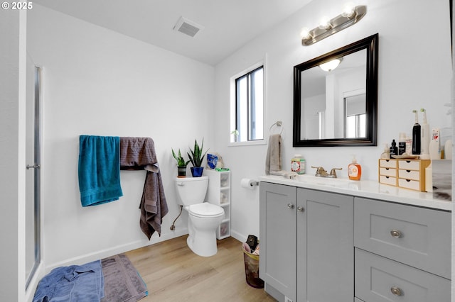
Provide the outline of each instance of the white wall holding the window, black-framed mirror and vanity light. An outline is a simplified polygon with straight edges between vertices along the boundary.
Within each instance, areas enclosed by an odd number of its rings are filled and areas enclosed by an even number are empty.
[[[283,121],[284,169],[290,169],[294,153],[301,153],[307,167],[343,167],[340,177],[347,177],[346,168],[355,154],[363,167],[362,179],[375,180],[382,143],[397,140],[400,132],[411,133],[412,109],[426,108],[430,127],[451,125],[451,116],[446,115],[449,108],[444,106],[450,104],[452,77],[449,1],[432,1],[432,13],[428,13],[429,1],[424,0],[355,2],[366,4],[368,13],[359,23],[336,35],[308,47],[301,46],[302,27],[313,28],[321,16],[336,16],[342,9],[340,1],[312,1],[215,68],[216,108],[228,113],[230,77],[267,57],[266,129],[275,121]],[[379,33],[378,146],[292,147],[294,65],[375,33]],[[227,115],[218,118],[215,133],[218,152],[232,169],[232,234],[240,240],[248,234],[258,235],[259,192],[242,189],[240,179],[264,174],[267,145],[229,147]],[[307,172],[313,173],[311,169]]]

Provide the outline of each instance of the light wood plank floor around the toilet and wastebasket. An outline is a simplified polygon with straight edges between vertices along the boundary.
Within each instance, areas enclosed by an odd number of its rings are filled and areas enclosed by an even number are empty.
[[[218,240],[217,255],[200,257],[188,248],[186,237],[125,253],[149,289],[141,302],[276,301],[245,281],[242,242]]]

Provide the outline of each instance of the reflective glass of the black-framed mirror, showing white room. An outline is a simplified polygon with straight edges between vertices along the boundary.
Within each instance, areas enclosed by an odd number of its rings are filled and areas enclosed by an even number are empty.
[[[340,64],[327,71],[320,65],[301,72],[301,140],[360,138],[365,133],[363,128],[352,135],[349,129],[348,135],[347,117],[354,115],[356,106],[365,114],[366,50],[331,62]],[[362,96],[364,103],[358,104]]]

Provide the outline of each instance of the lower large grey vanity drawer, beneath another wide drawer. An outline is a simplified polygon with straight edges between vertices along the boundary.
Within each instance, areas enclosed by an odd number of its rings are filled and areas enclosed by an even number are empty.
[[[448,279],[356,248],[355,296],[368,302],[448,302],[451,287]]]

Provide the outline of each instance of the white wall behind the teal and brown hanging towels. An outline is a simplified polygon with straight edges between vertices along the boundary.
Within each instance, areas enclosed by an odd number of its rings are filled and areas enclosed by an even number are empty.
[[[33,5],[28,53],[43,67],[43,258],[48,269],[100,259],[183,235],[171,155],[205,138],[213,148],[214,68]],[[145,172],[121,172],[119,201],[82,208],[79,135],[154,139],[169,213],[161,237],[139,228]],[[189,166],[188,166],[189,173]]]

